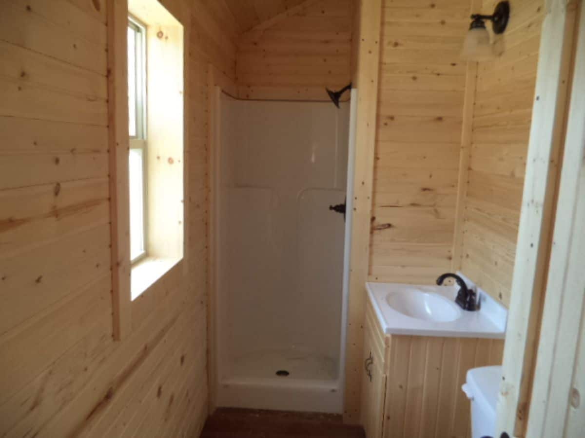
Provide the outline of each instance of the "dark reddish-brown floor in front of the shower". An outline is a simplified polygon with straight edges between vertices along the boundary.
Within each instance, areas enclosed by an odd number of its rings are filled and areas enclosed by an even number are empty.
[[[341,415],[217,409],[201,438],[365,438],[362,427],[342,423]]]

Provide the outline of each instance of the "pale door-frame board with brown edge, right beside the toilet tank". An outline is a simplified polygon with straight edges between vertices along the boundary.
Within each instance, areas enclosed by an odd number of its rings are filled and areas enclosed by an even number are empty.
[[[572,53],[574,4],[546,1],[536,76],[517,253],[498,395],[497,436],[525,436],[543,290],[546,281],[562,152],[568,66]]]

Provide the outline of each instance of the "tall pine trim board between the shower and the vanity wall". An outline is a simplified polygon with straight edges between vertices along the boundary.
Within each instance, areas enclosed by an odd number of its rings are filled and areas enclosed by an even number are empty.
[[[376,142],[380,22],[381,0],[361,0],[359,67],[355,84],[358,90],[356,157],[343,411],[343,419],[347,423],[357,423],[360,420],[363,318],[366,311],[365,284],[370,246],[371,193]]]

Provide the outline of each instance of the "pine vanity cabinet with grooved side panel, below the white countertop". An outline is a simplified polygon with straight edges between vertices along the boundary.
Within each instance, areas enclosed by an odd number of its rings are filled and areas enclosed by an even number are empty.
[[[364,324],[362,425],[367,438],[467,438],[467,370],[502,363],[504,340],[385,335]],[[371,374],[371,378],[370,378]]]

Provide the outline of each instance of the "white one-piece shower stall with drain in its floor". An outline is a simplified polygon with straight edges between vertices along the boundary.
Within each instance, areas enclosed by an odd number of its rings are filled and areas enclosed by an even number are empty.
[[[218,404],[341,412],[349,104],[220,107]]]

